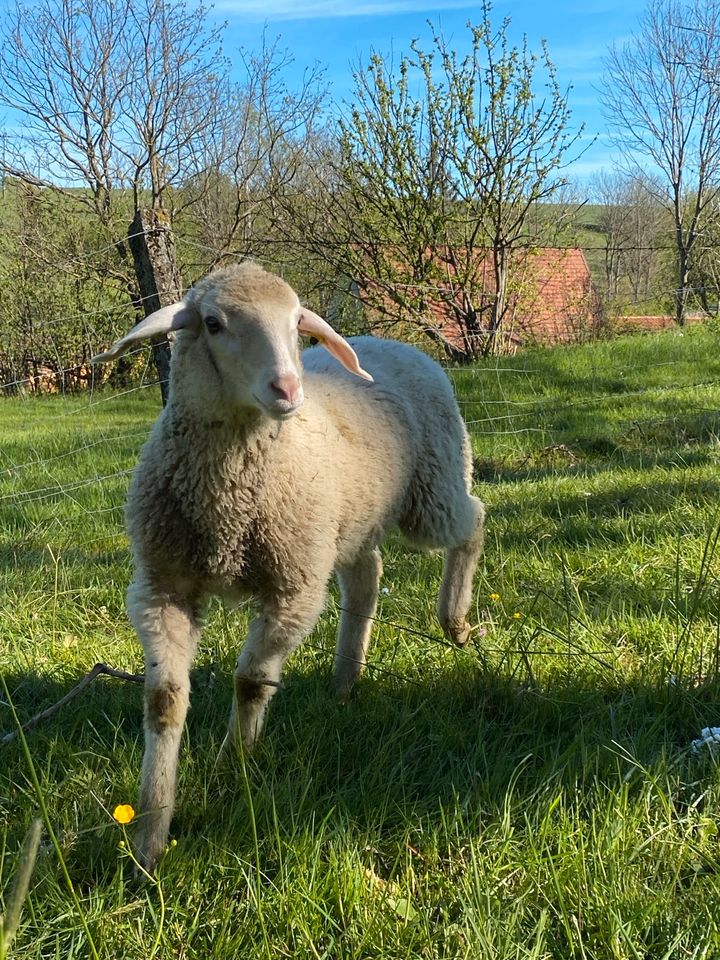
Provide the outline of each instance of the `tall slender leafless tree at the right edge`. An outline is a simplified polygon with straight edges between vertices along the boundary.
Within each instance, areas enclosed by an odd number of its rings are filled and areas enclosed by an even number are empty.
[[[605,63],[603,102],[633,173],[653,175],[677,251],[675,319],[685,322],[703,218],[720,177],[720,0],[652,3]]]

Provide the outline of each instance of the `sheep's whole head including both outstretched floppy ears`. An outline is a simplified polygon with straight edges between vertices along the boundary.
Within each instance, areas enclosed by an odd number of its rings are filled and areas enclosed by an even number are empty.
[[[276,420],[291,417],[303,402],[298,334],[316,337],[348,370],[372,380],[346,340],[302,307],[284,280],[251,261],[213,271],[183,301],[146,317],[93,363],[173,330],[203,338],[232,403]]]

